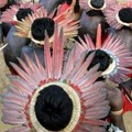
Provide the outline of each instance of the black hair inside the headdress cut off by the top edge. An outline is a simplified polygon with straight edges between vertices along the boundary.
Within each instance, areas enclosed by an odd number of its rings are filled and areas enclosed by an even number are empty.
[[[91,0],[91,1],[90,1],[90,4],[91,4],[94,8],[100,9],[100,8],[103,7],[105,0]]]

